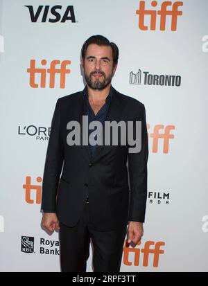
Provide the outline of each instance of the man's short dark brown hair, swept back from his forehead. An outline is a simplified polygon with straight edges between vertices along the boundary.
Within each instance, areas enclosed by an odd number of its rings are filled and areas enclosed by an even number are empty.
[[[103,37],[102,35],[94,35],[89,37],[83,44],[81,55],[83,60],[85,60],[85,55],[87,48],[90,44],[96,44],[98,46],[110,46],[112,48],[112,57],[114,66],[118,63],[119,59],[119,48],[113,42],[110,42],[109,39]]]

